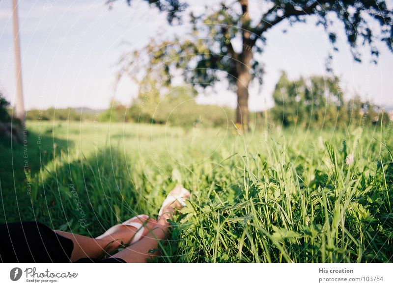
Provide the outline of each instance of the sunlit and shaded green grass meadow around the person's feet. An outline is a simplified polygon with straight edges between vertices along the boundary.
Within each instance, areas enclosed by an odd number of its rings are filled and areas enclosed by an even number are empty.
[[[96,236],[136,214],[156,216],[181,182],[192,197],[159,261],[393,259],[392,126],[245,136],[121,123],[28,129],[31,194],[23,145],[0,142],[1,222]]]

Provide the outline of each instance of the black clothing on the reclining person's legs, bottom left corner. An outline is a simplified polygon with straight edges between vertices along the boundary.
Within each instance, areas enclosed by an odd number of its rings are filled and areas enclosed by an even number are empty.
[[[3,263],[70,262],[74,243],[39,222],[0,225],[0,261]],[[125,262],[120,258],[82,258],[77,262]]]

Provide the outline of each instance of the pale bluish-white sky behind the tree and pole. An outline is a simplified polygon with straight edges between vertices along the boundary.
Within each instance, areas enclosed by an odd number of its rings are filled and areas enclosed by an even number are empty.
[[[165,14],[150,9],[141,0],[134,0],[131,7],[118,0],[111,10],[105,2],[19,1],[25,108],[103,109],[113,98],[130,104],[138,93],[137,85],[128,78],[123,78],[117,87],[114,85],[120,56],[143,47],[151,37],[173,35],[188,28],[169,26]],[[217,1],[189,2],[190,9],[200,9],[204,3],[213,5]],[[258,11],[257,3],[251,2],[250,10]],[[272,105],[271,95],[281,71],[286,71],[291,79],[326,75],[327,36],[314,23],[313,17],[309,17],[308,23],[293,27],[282,23],[266,34],[267,46],[260,55],[265,75],[262,84],[255,82],[250,87],[251,110]],[[374,65],[370,63],[368,47],[363,46],[363,62],[354,62],[339,23],[337,31],[339,52],[335,54],[333,66],[347,97],[357,93],[363,100],[393,105],[393,54],[384,44],[378,44],[381,55]],[[235,49],[239,48],[240,44],[235,43]],[[0,0],[0,55],[0,91],[14,104],[11,0]],[[201,93],[197,102],[234,107],[236,95],[225,89],[224,82],[216,85],[217,92]]]

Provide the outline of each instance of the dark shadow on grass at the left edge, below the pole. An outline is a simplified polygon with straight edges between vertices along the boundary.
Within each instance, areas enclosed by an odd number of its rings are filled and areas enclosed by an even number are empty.
[[[0,137],[0,223],[34,220],[30,201],[34,178],[72,145],[51,132],[29,131],[21,143]]]

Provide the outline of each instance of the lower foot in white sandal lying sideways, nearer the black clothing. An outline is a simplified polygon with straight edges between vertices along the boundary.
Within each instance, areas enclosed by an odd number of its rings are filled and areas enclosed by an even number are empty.
[[[111,252],[121,246],[135,243],[143,236],[146,236],[157,224],[157,221],[148,215],[135,216],[121,224],[117,224],[108,229],[104,234],[95,239],[107,242],[106,250]]]

